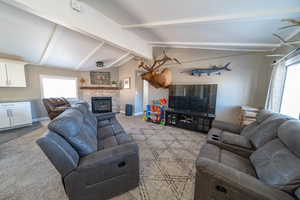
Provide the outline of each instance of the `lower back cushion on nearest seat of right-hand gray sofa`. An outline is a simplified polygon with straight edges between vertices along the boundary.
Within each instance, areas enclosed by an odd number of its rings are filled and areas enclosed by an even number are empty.
[[[290,193],[300,186],[300,159],[279,139],[256,150],[250,160],[262,182]]]

